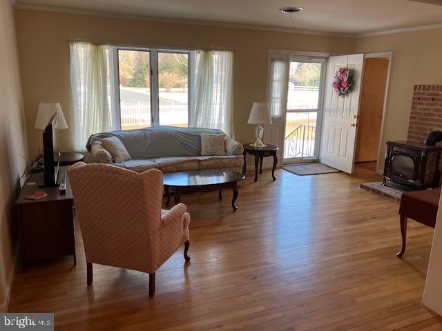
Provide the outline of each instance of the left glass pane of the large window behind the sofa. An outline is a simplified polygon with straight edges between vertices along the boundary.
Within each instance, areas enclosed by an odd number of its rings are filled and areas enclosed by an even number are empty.
[[[118,50],[118,79],[122,130],[150,127],[151,52]]]

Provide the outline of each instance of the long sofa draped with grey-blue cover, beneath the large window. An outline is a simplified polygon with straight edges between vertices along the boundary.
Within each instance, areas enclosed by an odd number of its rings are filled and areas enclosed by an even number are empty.
[[[202,134],[222,134],[225,154],[201,155]],[[117,137],[131,159],[115,162],[104,148],[106,138]],[[106,141],[106,140],[105,140]],[[156,126],[136,130],[118,130],[93,134],[86,148],[97,163],[111,163],[122,168],[143,172],[158,169],[162,172],[221,169],[242,172],[243,148],[222,130],[208,128],[175,128]]]

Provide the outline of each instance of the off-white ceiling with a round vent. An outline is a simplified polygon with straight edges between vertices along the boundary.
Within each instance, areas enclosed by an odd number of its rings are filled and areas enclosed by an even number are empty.
[[[17,4],[341,34],[442,23],[442,6],[408,0],[17,0]],[[285,6],[305,10],[290,18],[278,11]]]

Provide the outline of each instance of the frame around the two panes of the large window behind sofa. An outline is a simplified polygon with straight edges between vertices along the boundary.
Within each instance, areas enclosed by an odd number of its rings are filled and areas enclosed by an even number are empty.
[[[158,84],[158,53],[179,53],[187,54],[187,126],[191,123],[191,106],[193,100],[193,93],[191,86],[193,86],[193,53],[195,50],[183,50],[181,48],[151,48],[138,46],[111,46],[111,60],[112,60],[112,75],[111,75],[111,90],[113,92],[113,102],[115,103],[115,126],[117,130],[122,130],[122,114],[121,114],[121,98],[119,95],[119,50],[133,50],[139,52],[149,52],[149,64],[151,66],[151,128],[160,126],[160,90]]]

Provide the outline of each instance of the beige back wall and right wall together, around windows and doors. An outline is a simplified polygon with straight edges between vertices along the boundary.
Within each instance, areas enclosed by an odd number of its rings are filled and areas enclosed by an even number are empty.
[[[39,101],[60,101],[68,130],[60,133],[61,150],[73,150],[73,112],[69,79],[69,39],[97,43],[176,48],[227,48],[234,52],[234,128],[241,142],[253,141],[247,117],[253,101],[267,89],[269,49],[332,52],[393,51],[387,99],[385,141],[405,139],[414,84],[442,83],[442,30],[345,39],[216,26],[160,23],[79,14],[16,10],[17,42],[30,155],[41,148],[33,128]],[[381,152],[381,168],[383,167]]]

